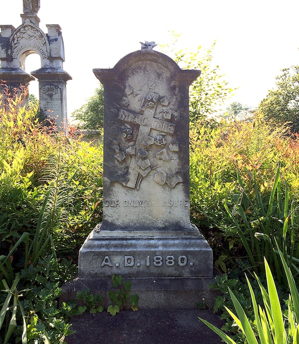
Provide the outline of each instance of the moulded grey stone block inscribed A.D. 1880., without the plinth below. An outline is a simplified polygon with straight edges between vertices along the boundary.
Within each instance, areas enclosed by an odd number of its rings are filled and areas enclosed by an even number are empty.
[[[213,254],[195,226],[188,231],[109,231],[99,226],[79,252],[79,278],[212,277]]]

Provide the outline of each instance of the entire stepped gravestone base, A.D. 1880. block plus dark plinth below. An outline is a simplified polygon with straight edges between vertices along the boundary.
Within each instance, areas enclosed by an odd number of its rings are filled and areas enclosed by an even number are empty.
[[[111,277],[121,275],[140,297],[140,309],[212,309],[215,293],[212,250],[195,226],[188,231],[101,231],[96,227],[79,252],[78,278],[63,287],[61,300],[78,291],[102,294],[109,305]]]

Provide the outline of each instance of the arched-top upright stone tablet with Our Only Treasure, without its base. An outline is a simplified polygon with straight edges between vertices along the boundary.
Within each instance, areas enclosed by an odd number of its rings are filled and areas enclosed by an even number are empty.
[[[188,86],[199,72],[147,49],[94,72],[105,92],[102,230],[191,230]]]

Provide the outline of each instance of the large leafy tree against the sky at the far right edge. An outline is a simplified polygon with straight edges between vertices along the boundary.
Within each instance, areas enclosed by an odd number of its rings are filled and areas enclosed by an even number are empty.
[[[289,123],[292,131],[299,132],[299,65],[283,69],[276,79],[277,88],[262,100],[259,112],[265,119],[279,125]]]

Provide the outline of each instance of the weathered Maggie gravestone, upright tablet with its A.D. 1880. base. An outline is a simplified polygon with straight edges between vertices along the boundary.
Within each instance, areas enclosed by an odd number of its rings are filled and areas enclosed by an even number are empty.
[[[104,85],[103,222],[80,250],[79,279],[212,277],[212,250],[190,223],[188,88],[200,71],[152,45],[94,69]]]

